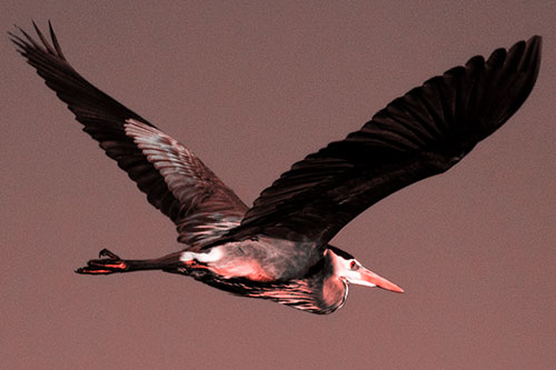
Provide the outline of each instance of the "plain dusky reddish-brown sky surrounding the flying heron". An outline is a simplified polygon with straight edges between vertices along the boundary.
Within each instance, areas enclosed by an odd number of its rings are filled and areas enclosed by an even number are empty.
[[[406,289],[320,317],[158,272],[73,273],[102,248],[179,247],[172,223],[1,38],[3,369],[548,369],[556,363],[554,1],[2,1],[51,19],[100,89],[250,203],[288,167],[424,80],[542,34],[523,108],[448,173],[332,241]]]

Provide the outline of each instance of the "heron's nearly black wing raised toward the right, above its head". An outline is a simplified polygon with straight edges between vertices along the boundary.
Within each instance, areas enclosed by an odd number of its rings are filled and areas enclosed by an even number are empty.
[[[361,130],[295,163],[227,236],[329,241],[380,199],[444,172],[523,104],[540,63],[538,36],[471,58],[376,113]]]

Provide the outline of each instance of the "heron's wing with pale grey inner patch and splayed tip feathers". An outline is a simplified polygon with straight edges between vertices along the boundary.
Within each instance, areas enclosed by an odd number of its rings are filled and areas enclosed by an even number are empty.
[[[191,151],[83,79],[66,60],[49,22],[50,44],[19,29],[18,51],[128,172],[148,201],[177,226],[180,242],[202,246],[239,224],[247,207]]]

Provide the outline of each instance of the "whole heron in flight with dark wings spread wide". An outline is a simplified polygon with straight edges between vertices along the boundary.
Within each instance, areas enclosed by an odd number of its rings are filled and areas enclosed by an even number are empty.
[[[34,38],[18,26],[8,32],[17,51],[178,232],[178,251],[140,260],[102,249],[76,272],[159,270],[318,314],[341,308],[349,284],[404,292],[329,241],[502,127],[533,90],[542,50],[542,37],[533,36],[428,79],[360,130],[294,163],[248,207],[187,147],[81,77],[50,21],[50,40],[32,26]]]

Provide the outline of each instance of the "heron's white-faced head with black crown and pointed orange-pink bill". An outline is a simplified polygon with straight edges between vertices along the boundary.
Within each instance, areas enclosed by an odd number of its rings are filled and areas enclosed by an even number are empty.
[[[351,254],[341,249],[329,246],[327,253],[334,269],[334,274],[346,282],[365,287],[378,287],[398,293],[404,292],[404,289],[394,282],[364,268]]]

